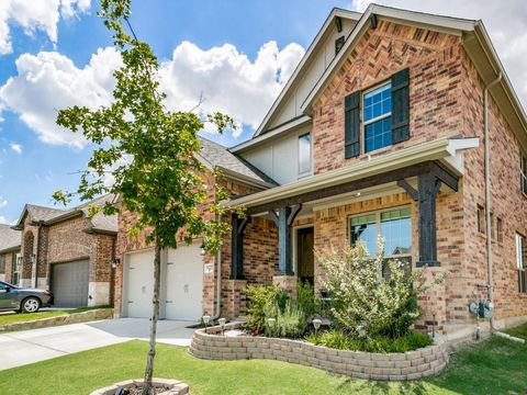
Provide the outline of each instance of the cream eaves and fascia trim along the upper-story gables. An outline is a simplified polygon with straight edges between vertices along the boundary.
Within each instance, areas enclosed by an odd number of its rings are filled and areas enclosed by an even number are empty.
[[[357,23],[352,27],[349,35],[346,37],[345,44],[340,52],[333,58],[328,67],[323,71],[322,76],[307,94],[306,99],[300,105],[301,120],[310,120],[312,112],[312,106],[319,93],[327,87],[332,77],[338,71],[340,66],[344,64],[349,53],[354,49],[358,41],[362,37],[366,31],[370,27],[370,21],[373,18],[384,19],[392,22],[402,22],[405,24],[417,25],[423,29],[429,29],[438,32],[445,32],[449,34],[455,34],[462,37],[462,44],[468,53],[469,57],[473,61],[475,68],[478,69],[482,80],[485,84],[489,84],[496,79],[497,76],[502,76],[500,83],[495,84],[490,91],[495,102],[500,106],[500,110],[505,115],[507,122],[515,131],[520,144],[524,149],[527,150],[527,115],[525,110],[519,102],[516,92],[503,68],[503,65],[497,56],[497,53],[492,45],[492,42],[489,37],[489,34],[484,27],[482,21],[474,21],[461,18],[435,15],[424,12],[402,10],[385,5],[379,5],[371,3],[366,11],[360,13],[351,13],[349,11],[334,9],[323,27],[316,35],[315,40],[311,44],[310,48],[305,53],[301,63],[296,67],[295,71],[289,79],[288,83],[282,89],[281,93],[270,108],[262,123],[256,131],[255,135],[248,142],[231,148],[232,151],[240,151],[251,147],[254,144],[258,144],[266,137],[277,137],[282,133],[287,133],[294,127],[295,120],[291,120],[281,127],[277,127],[276,131],[266,129],[269,125],[269,121],[272,119],[273,114],[279,111],[280,104],[283,102],[284,98],[288,95],[291,87],[295,83],[295,79],[299,77],[299,74],[306,65],[312,60],[313,52],[317,43],[324,33],[330,29],[333,20],[337,16],[340,18],[355,18]],[[269,133],[269,136],[267,134]]]

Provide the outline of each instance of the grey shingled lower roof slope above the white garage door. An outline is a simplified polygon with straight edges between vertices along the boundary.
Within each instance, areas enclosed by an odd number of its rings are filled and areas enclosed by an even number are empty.
[[[277,182],[256,167],[229,153],[227,147],[201,136],[200,142],[201,150],[197,156],[209,169],[217,167],[226,177],[239,179],[260,189],[278,185]]]

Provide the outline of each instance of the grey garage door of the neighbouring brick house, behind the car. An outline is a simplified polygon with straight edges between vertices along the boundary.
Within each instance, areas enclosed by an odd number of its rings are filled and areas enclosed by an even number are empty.
[[[88,305],[90,261],[78,260],[52,264],[52,291],[57,307]]]

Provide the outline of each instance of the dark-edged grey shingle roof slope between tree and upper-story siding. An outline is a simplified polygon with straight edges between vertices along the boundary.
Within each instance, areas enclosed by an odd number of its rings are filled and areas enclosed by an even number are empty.
[[[200,136],[201,151],[200,156],[212,166],[233,171],[235,173],[248,177],[255,181],[265,182],[277,185],[270,177],[266,176],[247,161],[229,153],[226,147],[221,144],[211,142]]]

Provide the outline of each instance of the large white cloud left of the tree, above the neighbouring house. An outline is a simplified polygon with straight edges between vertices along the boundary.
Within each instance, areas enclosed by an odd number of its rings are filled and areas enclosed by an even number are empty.
[[[108,104],[115,83],[112,72],[120,66],[121,56],[112,47],[99,49],[82,69],[56,52],[24,54],[16,59],[18,76],[0,88],[0,103],[18,113],[44,143],[81,148],[82,134],[58,126],[57,111]]]

